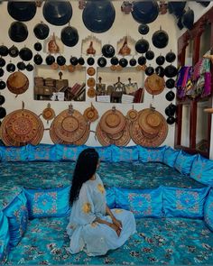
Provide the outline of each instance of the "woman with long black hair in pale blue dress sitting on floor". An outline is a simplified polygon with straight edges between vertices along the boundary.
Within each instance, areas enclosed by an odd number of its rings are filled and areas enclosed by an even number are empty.
[[[72,254],[104,255],[125,243],[135,233],[134,215],[106,205],[106,190],[96,171],[98,153],[88,148],[79,154],[69,193],[71,214],[67,233]]]

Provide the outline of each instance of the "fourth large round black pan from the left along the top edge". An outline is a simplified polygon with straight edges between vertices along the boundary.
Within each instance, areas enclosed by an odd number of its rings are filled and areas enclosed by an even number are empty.
[[[157,1],[135,1],[132,15],[137,23],[153,23],[159,14]]]

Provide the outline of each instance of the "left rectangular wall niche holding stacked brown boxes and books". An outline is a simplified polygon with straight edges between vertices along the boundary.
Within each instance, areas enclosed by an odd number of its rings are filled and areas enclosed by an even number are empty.
[[[69,67],[68,67],[69,68]],[[86,68],[51,69],[36,66],[34,75],[34,99],[48,101],[85,101]]]

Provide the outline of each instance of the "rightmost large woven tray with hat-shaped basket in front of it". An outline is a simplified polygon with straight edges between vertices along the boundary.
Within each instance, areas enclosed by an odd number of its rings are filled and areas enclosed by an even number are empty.
[[[157,147],[166,139],[168,125],[161,113],[147,108],[138,112],[137,119],[130,125],[130,133],[136,144]]]

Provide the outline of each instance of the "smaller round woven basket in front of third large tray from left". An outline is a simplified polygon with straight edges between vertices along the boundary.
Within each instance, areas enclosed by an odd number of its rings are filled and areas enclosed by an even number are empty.
[[[124,130],[125,128],[125,116],[115,107],[106,111],[100,119],[100,127],[106,133],[115,134]]]

